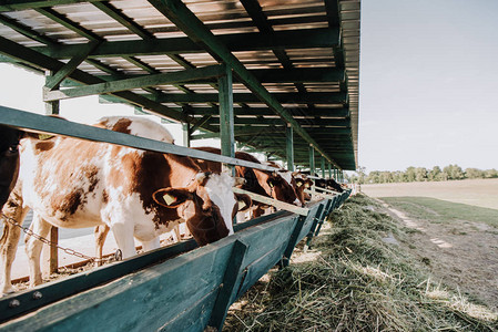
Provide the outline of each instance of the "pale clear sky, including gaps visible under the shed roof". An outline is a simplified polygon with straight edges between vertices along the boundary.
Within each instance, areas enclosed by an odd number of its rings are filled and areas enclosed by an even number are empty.
[[[498,0],[362,1],[358,166],[498,168],[497,15]],[[0,105],[43,114],[43,82],[0,64]],[[77,122],[118,114],[133,108],[61,101]]]

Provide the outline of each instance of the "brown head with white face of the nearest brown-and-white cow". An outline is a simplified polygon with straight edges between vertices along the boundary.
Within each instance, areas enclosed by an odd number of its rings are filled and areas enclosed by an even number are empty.
[[[233,234],[232,220],[238,211],[234,184],[227,174],[200,173],[190,186],[159,189],[153,199],[176,209],[197,243],[204,246]]]

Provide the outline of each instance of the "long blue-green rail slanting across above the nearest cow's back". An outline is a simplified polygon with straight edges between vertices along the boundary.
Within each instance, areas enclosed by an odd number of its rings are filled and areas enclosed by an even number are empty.
[[[191,149],[179,145],[167,144],[153,139],[142,138],[123,133],[88,126],[71,121],[42,116],[29,112],[0,106],[0,123],[19,128],[34,129],[44,133],[53,133],[63,136],[83,138],[96,142],[108,142],[140,149],[159,153],[169,153],[180,156],[189,156],[199,159],[207,159],[230,165],[240,165],[257,169],[276,170],[263,164],[250,163],[242,159],[230,158],[197,149]]]

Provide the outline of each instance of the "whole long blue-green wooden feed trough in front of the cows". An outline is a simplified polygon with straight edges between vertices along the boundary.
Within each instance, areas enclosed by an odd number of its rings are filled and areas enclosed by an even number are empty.
[[[311,206],[307,217],[277,212],[264,216],[262,222],[241,224],[234,236],[42,307],[3,323],[0,331],[202,331],[206,325],[221,328],[230,304],[307,235],[315,215],[325,204]],[[161,250],[164,249],[157,252]],[[133,259],[99,271],[111,271],[131,261]],[[74,282],[84,277],[78,274],[72,279]],[[67,281],[53,284],[63,282]],[[42,286],[38,291],[47,293],[45,289],[53,284]],[[11,295],[9,300],[16,298]]]

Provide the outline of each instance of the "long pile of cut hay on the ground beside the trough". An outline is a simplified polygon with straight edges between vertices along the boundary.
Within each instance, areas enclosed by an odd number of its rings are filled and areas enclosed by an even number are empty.
[[[405,229],[379,210],[368,197],[348,199],[314,240],[318,258],[260,281],[224,331],[498,331],[496,313],[429,279],[403,249]]]

